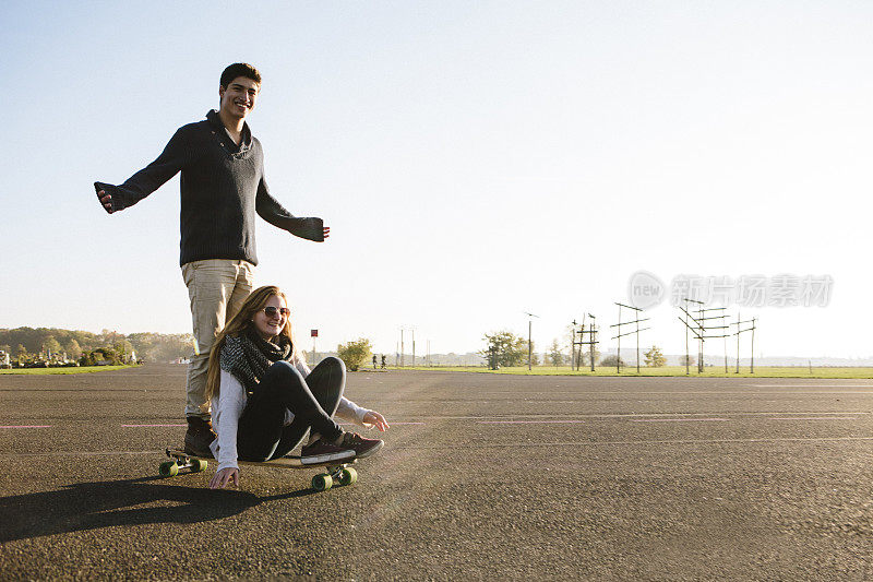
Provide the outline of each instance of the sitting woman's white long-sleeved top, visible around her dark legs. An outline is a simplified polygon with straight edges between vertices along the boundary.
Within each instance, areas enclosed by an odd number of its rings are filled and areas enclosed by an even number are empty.
[[[294,358],[291,364],[303,378],[309,376],[309,367],[299,358]],[[246,402],[246,390],[240,381],[227,370],[222,370],[222,388],[218,395],[212,399],[212,426],[218,438],[210,444],[213,456],[218,461],[217,471],[229,467],[239,468],[237,464],[237,428]],[[340,420],[364,426],[363,417],[368,412],[370,411],[343,396],[339,399],[335,416]],[[290,425],[291,421],[294,421],[294,413],[286,408],[285,426]]]

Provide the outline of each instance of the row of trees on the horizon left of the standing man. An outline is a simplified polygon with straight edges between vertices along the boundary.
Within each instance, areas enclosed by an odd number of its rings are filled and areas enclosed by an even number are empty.
[[[171,361],[189,357],[191,334],[131,333],[103,330],[100,333],[57,328],[0,329],[0,351],[19,365],[34,363],[79,363],[93,366],[145,361]]]

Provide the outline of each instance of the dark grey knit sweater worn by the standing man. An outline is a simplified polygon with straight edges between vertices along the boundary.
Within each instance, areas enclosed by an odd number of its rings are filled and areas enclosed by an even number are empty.
[[[94,182],[112,197],[112,212],[132,206],[164,182],[181,177],[181,257],[246,260],[258,264],[254,213],[270,224],[309,240],[322,241],[321,218],[298,218],[270,195],[261,142],[243,124],[234,143],[216,111],[182,126],[157,159],[121,186]]]

